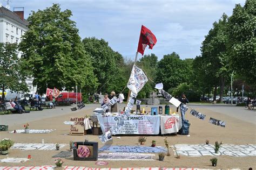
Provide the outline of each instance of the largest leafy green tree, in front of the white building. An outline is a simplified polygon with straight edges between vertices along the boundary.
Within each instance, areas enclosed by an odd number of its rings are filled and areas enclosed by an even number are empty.
[[[45,10],[32,11],[28,17],[29,30],[19,47],[40,94],[45,93],[46,87],[97,86],[90,56],[83,49],[71,16],[70,10],[60,11],[60,6],[53,4]]]

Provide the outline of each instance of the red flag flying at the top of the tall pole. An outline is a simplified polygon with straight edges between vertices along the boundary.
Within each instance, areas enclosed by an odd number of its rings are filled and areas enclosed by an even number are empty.
[[[149,45],[149,48],[152,49],[156,43],[156,36],[154,36],[154,34],[149,29],[147,29],[147,27],[142,25],[137,52],[143,55],[147,45]]]

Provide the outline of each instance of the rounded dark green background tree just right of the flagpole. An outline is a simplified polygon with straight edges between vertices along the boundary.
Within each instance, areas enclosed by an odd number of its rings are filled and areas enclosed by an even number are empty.
[[[158,62],[155,81],[162,82],[164,90],[167,91],[180,83],[188,82],[188,69],[186,62],[181,60],[177,53],[164,55]]]

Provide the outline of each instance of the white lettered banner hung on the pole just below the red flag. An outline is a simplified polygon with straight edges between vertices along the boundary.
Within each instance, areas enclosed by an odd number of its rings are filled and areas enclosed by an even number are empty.
[[[136,95],[138,95],[139,91],[143,88],[143,86],[147,82],[147,76],[143,72],[142,69],[133,65],[132,72],[130,75],[129,82],[127,83],[127,87]]]

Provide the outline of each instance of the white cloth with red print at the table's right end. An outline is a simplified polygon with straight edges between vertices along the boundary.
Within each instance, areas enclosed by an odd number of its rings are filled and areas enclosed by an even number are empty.
[[[160,116],[160,119],[161,119],[161,134],[176,133],[181,129],[182,121],[179,115]]]

